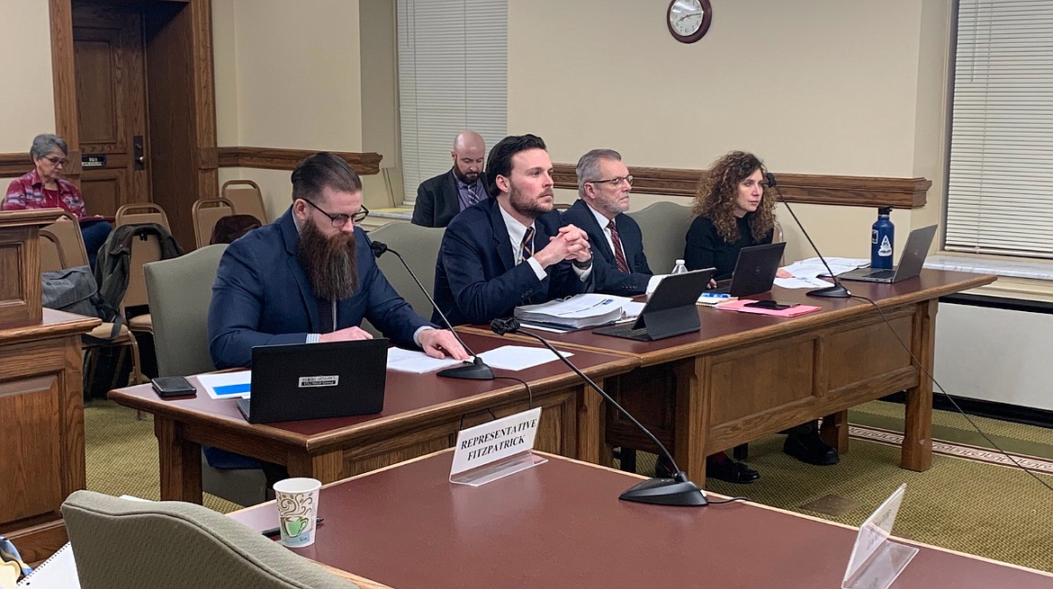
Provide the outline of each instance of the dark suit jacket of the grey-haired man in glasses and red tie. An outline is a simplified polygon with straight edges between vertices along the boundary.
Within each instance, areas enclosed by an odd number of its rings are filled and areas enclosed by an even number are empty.
[[[632,297],[647,291],[648,281],[654,273],[648,266],[648,257],[643,255],[643,235],[640,226],[628,215],[619,214],[614,218],[618,227],[618,238],[621,249],[625,253],[629,273],[618,270],[614,261],[614,250],[603,236],[603,228],[596,222],[585,201],[578,199],[571,208],[564,210],[560,218],[563,225],[574,225],[589,233],[589,245],[593,250],[593,273],[596,292]]]

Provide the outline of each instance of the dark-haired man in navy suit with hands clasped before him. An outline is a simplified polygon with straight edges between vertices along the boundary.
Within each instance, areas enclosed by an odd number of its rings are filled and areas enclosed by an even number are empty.
[[[544,141],[502,139],[486,160],[486,182],[493,196],[461,211],[439,247],[435,303],[450,321],[486,323],[517,305],[588,291],[589,238],[560,224]]]

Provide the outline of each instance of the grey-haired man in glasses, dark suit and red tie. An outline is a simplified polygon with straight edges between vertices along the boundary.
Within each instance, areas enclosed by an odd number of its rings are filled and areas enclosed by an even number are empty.
[[[640,226],[629,210],[633,177],[614,149],[593,149],[578,160],[578,196],[561,215],[584,229],[593,249],[596,292],[632,297],[647,291],[651,267]]]

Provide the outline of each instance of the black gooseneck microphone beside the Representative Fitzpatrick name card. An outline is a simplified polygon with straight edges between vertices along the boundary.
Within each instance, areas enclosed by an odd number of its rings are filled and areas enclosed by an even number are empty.
[[[600,394],[608,403],[614,406],[622,415],[629,419],[636,427],[640,429],[656,446],[661,450],[662,454],[669,459],[670,464],[673,465],[673,470],[676,474],[672,479],[649,479],[634,485],[633,487],[625,490],[618,496],[620,500],[624,501],[635,501],[637,503],[650,503],[654,505],[683,505],[683,506],[702,506],[707,505],[709,501],[706,500],[706,491],[700,489],[698,485],[692,483],[688,480],[688,474],[676,466],[676,462],[673,460],[673,454],[665,449],[665,446],[655,438],[654,433],[651,433],[647,427],[640,422],[636,421],[636,418],[632,415],[624,407],[618,404],[605,390],[600,388],[599,385],[593,382],[592,379],[587,377],[584,372],[578,369],[570,360],[559,353],[556,348],[552,347],[552,344],[548,340],[538,336],[537,333],[531,333],[530,331],[523,331],[519,329],[519,321],[513,317],[504,319],[495,319],[490,322],[490,329],[497,333],[498,336],[504,336],[505,333],[523,333],[530,336],[535,340],[541,342],[541,344],[549,348],[552,353],[556,354],[556,358],[561,360],[563,364],[574,370],[581,380],[593,387],[596,392]]]

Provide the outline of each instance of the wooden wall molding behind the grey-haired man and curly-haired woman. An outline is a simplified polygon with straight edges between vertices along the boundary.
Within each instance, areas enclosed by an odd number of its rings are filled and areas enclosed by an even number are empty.
[[[577,175],[571,164],[554,164],[557,188],[577,190]],[[706,170],[665,167],[631,167],[633,191],[645,195],[694,198]],[[782,196],[790,202],[866,206],[870,208],[921,208],[932,181],[925,178],[875,178],[778,174]]]

